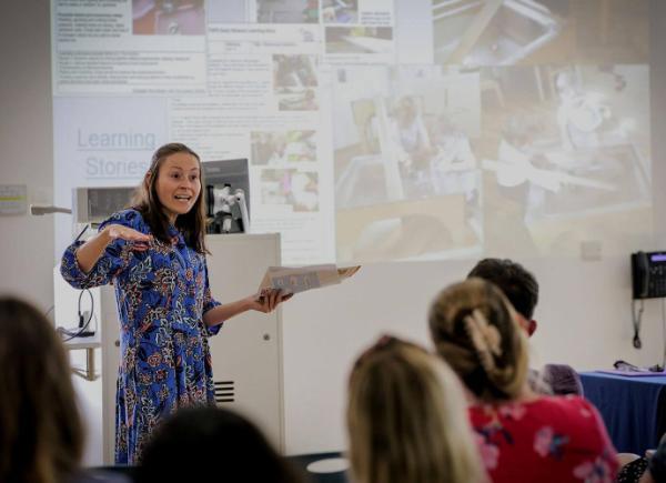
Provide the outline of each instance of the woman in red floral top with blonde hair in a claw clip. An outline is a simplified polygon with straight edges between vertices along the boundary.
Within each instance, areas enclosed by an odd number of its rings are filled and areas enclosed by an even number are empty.
[[[437,353],[468,390],[470,417],[494,482],[613,482],[616,452],[596,409],[527,384],[527,342],[513,306],[490,282],[468,279],[434,301]]]

